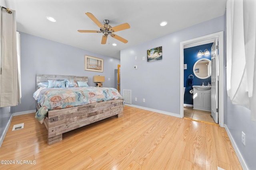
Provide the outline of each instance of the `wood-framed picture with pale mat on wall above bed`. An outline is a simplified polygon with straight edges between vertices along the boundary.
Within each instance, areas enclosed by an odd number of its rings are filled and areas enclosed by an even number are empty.
[[[84,55],[84,70],[103,72],[103,59]]]

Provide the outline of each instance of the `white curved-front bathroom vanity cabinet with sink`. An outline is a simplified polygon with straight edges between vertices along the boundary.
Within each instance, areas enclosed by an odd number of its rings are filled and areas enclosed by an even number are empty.
[[[211,86],[193,86],[193,109],[211,111]]]

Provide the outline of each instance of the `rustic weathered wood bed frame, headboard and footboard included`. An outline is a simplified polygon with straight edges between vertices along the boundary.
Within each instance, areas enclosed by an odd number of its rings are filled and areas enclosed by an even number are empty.
[[[36,89],[38,89],[37,84],[39,82],[66,79],[88,82],[88,77],[82,76],[36,74]],[[48,116],[44,120],[44,125],[48,131],[48,145],[62,141],[62,133],[114,115],[116,115],[116,117],[122,117],[123,107],[123,100],[110,100],[84,106],[49,110]],[[40,106],[36,102],[36,109],[38,110],[39,108]]]

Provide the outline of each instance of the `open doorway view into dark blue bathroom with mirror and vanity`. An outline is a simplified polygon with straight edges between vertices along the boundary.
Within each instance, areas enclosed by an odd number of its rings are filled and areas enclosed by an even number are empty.
[[[211,94],[215,87],[212,86],[212,66],[215,66],[212,58],[216,55],[211,50],[213,44],[184,47],[184,117],[216,124],[218,121],[211,115]]]

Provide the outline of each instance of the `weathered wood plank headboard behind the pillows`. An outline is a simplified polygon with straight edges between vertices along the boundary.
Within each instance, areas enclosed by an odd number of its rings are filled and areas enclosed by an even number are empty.
[[[88,82],[87,76],[64,76],[64,75],[52,75],[52,74],[36,74],[36,89],[38,89],[38,83],[48,82],[48,80],[76,80],[81,82]]]

